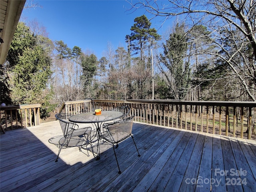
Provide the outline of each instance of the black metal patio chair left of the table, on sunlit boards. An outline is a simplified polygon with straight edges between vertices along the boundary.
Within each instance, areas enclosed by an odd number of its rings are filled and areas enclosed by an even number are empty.
[[[55,117],[60,122],[60,126],[63,132],[62,136],[55,136],[49,139],[50,143],[56,144],[56,142],[58,142],[59,152],[55,162],[58,161],[58,157],[62,148],[78,147],[79,151],[81,152],[81,149],[84,149],[84,146],[87,148],[88,144],[91,142],[90,136],[92,133],[92,128],[79,128],[77,124],[68,120],[70,116],[72,115],[60,113],[55,115]]]

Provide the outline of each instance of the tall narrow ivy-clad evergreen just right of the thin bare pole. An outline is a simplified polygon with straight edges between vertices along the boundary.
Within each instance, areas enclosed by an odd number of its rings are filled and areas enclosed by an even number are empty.
[[[182,100],[186,96],[190,84],[190,67],[185,61],[188,49],[188,38],[184,31],[184,24],[176,24],[175,31],[170,34],[164,52],[160,54],[160,70],[168,86],[169,98]]]

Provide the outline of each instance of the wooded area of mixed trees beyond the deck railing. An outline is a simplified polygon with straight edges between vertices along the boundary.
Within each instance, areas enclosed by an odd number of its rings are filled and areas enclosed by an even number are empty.
[[[42,104],[41,117],[64,101],[151,99],[256,101],[256,2],[136,1],[152,16],[179,16],[160,36],[142,15],[102,58],[52,42],[36,21],[19,23],[1,65],[1,103]],[[199,8],[199,9],[198,9]]]

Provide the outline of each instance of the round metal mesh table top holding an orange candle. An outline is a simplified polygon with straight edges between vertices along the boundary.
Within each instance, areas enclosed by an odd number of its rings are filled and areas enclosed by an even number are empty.
[[[101,111],[101,115],[95,115],[95,112],[87,112],[73,115],[69,120],[75,123],[97,123],[118,119],[123,115],[120,111]]]

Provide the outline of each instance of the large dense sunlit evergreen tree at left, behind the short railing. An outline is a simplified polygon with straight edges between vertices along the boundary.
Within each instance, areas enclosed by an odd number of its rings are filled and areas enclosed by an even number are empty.
[[[50,104],[44,105],[52,96],[51,88],[47,86],[52,61],[49,49],[44,49],[45,44],[39,44],[44,38],[39,38],[24,23],[18,23],[5,64],[10,74],[12,103],[40,103],[41,118],[46,118],[54,108]]]

